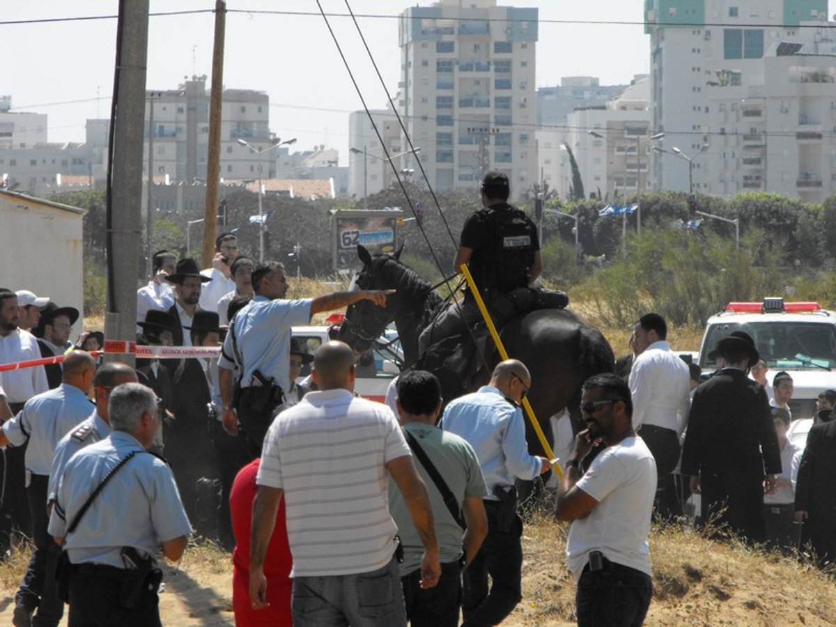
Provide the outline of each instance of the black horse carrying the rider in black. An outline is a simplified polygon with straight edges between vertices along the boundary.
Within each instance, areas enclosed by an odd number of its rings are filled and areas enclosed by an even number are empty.
[[[383,333],[386,325],[395,322],[404,350],[405,367],[418,358],[418,336],[430,320],[441,297],[430,283],[400,263],[400,250],[395,255],[372,257],[364,247],[357,247],[363,270],[357,277],[359,289],[396,289],[386,307],[360,301],[349,307],[339,339],[355,350],[369,349]],[[501,331],[502,344],[509,355],[528,366],[532,377],[528,400],[538,416],[543,432],[551,441],[548,418],[568,408],[573,431],[583,429],[580,420],[580,388],[584,381],[601,372],[614,369],[613,349],[598,329],[590,326],[568,309],[540,309],[518,315]],[[487,354],[488,369],[498,363],[495,349]],[[472,381],[471,389],[462,390],[458,381],[441,381],[442,390],[457,389],[461,395],[487,383]],[[452,384],[452,385],[451,385]],[[458,387],[456,387],[458,385]],[[452,400],[445,397],[445,403]],[[533,427],[526,421],[528,447],[535,455],[545,455]]]

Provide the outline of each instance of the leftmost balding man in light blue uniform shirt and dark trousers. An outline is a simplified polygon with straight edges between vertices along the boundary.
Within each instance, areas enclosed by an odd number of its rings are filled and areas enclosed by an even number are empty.
[[[89,353],[74,350],[64,359],[61,385],[33,396],[18,415],[3,423],[0,445],[24,446],[26,453],[26,497],[32,516],[34,548],[18,593],[15,594],[14,624],[30,624],[37,609],[36,624],[58,624],[64,604],[48,581],[48,554],[54,542],[47,532],[46,512],[49,470],[55,445],[80,421],[90,415],[93,403],[87,398],[93,386],[95,360]]]

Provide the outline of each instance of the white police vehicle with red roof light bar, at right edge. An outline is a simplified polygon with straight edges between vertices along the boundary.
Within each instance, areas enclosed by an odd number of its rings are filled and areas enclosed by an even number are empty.
[[[732,331],[745,331],[755,340],[770,385],[781,370],[793,377],[793,421],[812,416],[818,393],[836,388],[836,312],[818,303],[784,303],[783,298],[728,303],[706,324],[699,361],[703,374],[716,370],[708,354]]]

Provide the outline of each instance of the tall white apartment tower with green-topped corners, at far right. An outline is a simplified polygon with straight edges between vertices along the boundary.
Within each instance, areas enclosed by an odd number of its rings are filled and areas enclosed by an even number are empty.
[[[696,192],[731,195],[768,190],[811,197],[811,190],[824,189],[796,185],[805,180],[804,172],[810,181],[817,181],[817,171],[823,176],[821,165],[810,156],[818,150],[809,147],[817,140],[807,139],[806,130],[796,128],[800,115],[789,124],[789,114],[781,110],[792,109],[782,105],[796,97],[806,100],[808,110],[819,109],[812,104],[818,97],[829,106],[836,99],[833,84],[829,92],[827,84],[801,88],[800,81],[791,79],[789,66],[782,70],[789,62],[776,58],[794,48],[782,44],[813,44],[813,29],[801,25],[825,19],[827,4],[827,0],[645,0],[650,129],[665,133],[663,145],[668,150],[651,155],[654,189],[689,189],[689,163],[673,154],[674,147],[693,157]],[[811,62],[819,63],[828,64]],[[778,97],[779,92],[783,96]],[[777,107],[770,102],[772,97],[777,98]],[[772,110],[776,115],[769,115]],[[771,159],[776,166],[788,166],[784,160],[798,153],[803,156],[791,171],[767,166]]]

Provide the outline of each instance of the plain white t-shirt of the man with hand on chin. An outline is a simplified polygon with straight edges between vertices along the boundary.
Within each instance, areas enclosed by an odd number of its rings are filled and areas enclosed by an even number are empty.
[[[566,543],[568,568],[578,579],[590,551],[610,562],[650,573],[650,512],[656,462],[639,436],[609,446],[576,484],[598,501],[589,516],[572,522]]]

